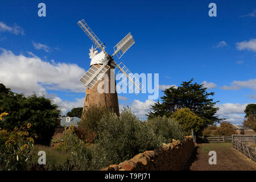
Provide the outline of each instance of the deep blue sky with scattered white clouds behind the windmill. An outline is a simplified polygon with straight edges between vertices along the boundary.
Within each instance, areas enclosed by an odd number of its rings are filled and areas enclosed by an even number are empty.
[[[38,16],[40,2],[46,17]],[[217,17],[208,15],[211,2]],[[134,73],[159,73],[160,89],[204,82],[230,122],[241,124],[256,100],[256,1],[1,1],[0,17],[0,82],[44,93],[63,113],[84,102],[78,78],[89,69],[92,42],[77,26],[81,19],[109,53],[131,32],[135,44],[121,61]],[[140,118],[157,101],[119,96],[120,107]]]

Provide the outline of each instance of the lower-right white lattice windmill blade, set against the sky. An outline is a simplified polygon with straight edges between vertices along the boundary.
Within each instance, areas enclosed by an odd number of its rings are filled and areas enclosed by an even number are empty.
[[[141,91],[142,84],[139,80],[129,71],[129,69],[121,62],[120,64],[116,65],[117,68],[125,75],[125,79],[122,80],[123,83],[128,86],[128,88],[133,91],[136,95]],[[119,71],[119,72],[120,72]],[[118,72],[118,73],[119,73]],[[128,80],[127,80],[128,79]],[[128,82],[127,82],[128,81]],[[131,84],[132,83],[132,84]],[[133,86],[134,85],[134,86]]]

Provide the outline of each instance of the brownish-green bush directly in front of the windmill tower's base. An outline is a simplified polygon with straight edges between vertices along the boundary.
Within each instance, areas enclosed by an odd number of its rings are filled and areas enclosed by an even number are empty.
[[[78,123],[78,127],[96,132],[98,130],[98,123],[105,114],[109,114],[110,110],[103,106],[91,105],[86,108],[82,113],[81,121]]]

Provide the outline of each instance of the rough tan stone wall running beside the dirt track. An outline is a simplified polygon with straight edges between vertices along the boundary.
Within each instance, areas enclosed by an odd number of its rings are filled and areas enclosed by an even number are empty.
[[[191,136],[183,142],[172,139],[171,143],[163,143],[158,150],[145,151],[133,159],[110,165],[101,171],[179,171],[186,167],[194,148]]]

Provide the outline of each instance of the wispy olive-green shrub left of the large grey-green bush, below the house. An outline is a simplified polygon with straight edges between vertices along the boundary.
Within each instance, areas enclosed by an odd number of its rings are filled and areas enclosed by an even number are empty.
[[[69,154],[72,169],[91,169],[92,151],[75,135],[73,128],[65,129],[63,143],[58,146],[58,150],[65,151]]]

